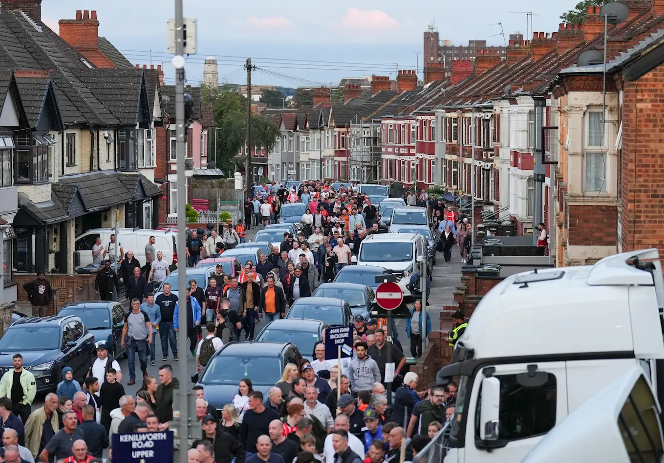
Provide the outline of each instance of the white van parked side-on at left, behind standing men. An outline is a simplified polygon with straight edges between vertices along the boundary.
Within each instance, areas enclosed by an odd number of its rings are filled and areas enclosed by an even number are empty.
[[[76,268],[85,267],[92,263],[92,246],[94,246],[98,237],[102,237],[102,246],[106,251],[113,233],[115,233],[113,228],[93,228],[78,235],[74,243],[74,251],[79,255],[80,261],[76,262]],[[155,253],[161,251],[163,259],[171,265],[174,255],[177,259],[177,247],[175,245],[177,233],[173,231],[121,228],[118,241],[125,253],[133,251],[133,257],[138,259],[141,266],[143,266],[145,265],[145,245],[147,245],[151,236],[155,237]],[[118,253],[120,253],[119,248]],[[124,256],[122,257],[124,258]],[[107,256],[107,258],[112,258],[112,256]]]

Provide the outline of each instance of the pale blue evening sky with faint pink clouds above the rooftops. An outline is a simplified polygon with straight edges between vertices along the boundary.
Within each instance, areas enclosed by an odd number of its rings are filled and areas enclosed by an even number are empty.
[[[503,44],[509,34],[533,29],[558,30],[559,16],[578,0],[184,0],[185,17],[197,19],[197,54],[187,57],[187,82],[203,80],[203,62],[214,56],[220,82],[246,82],[243,68],[252,58],[254,84],[274,86],[337,85],[341,78],[382,75],[397,69],[419,70],[422,78],[423,33],[434,23],[440,39],[454,44],[485,39]],[[533,5],[536,5],[533,7]],[[58,32],[58,20],[76,10],[96,10],[99,34],[133,64],[162,64],[173,84],[167,53],[166,23],[174,16],[169,0],[42,0],[42,21]],[[518,12],[518,13],[513,13]],[[529,36],[532,31],[529,28]]]

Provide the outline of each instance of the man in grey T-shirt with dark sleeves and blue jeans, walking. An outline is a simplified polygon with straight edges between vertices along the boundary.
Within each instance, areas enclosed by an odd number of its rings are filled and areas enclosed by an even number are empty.
[[[125,315],[122,328],[122,347],[127,344],[127,360],[129,361],[129,382],[131,386],[136,383],[135,355],[141,362],[143,377],[147,377],[147,351],[152,344],[152,324],[147,313],[141,310],[141,301],[137,298],[131,300],[131,311]]]

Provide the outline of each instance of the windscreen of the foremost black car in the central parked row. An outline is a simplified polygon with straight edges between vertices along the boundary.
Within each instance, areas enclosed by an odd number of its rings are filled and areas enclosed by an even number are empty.
[[[281,362],[277,357],[221,355],[210,360],[201,383],[237,385],[240,379],[251,378],[254,384],[273,385],[281,376]]]

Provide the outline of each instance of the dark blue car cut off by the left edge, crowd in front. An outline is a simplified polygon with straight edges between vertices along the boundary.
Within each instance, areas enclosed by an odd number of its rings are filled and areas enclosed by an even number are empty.
[[[78,316],[20,318],[0,338],[0,374],[13,368],[14,354],[21,354],[25,369],[35,375],[37,393],[53,392],[64,367],[71,367],[80,383],[85,380],[96,356],[94,335]]]

